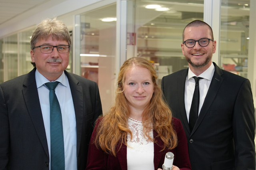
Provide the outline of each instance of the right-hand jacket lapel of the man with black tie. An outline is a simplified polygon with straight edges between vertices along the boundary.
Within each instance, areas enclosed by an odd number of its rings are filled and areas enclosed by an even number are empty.
[[[195,127],[194,127],[191,135],[195,132],[195,130],[198,128],[198,126],[204,119],[206,113],[208,112],[208,110],[209,110],[214,98],[216,97],[218,90],[220,89],[220,86],[223,82],[223,78],[221,77],[221,75],[223,74],[222,70],[215,63],[214,63],[214,66],[215,66],[214,75],[212,77],[210,87],[209,87],[206,97],[204,99],[202,109],[200,111],[200,114],[198,116],[198,119],[196,121]]]

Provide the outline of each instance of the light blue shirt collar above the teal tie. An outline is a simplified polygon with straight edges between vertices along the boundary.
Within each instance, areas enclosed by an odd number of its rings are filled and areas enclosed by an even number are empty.
[[[39,73],[38,70],[36,70],[35,77],[36,77],[36,87],[37,88],[41,87],[45,83],[50,82],[48,79],[46,79],[46,77],[44,77],[41,73]],[[67,85],[68,82],[66,81],[66,76],[65,76],[64,71],[63,71],[62,75],[60,75],[60,77],[58,77],[58,79],[56,79],[56,81],[60,82],[65,87],[68,87],[68,85]]]

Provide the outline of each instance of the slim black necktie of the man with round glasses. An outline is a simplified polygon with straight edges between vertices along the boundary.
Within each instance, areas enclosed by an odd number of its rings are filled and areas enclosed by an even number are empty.
[[[194,95],[193,95],[193,99],[192,99],[192,103],[191,103],[191,107],[190,107],[190,112],[189,112],[189,128],[190,128],[190,132],[192,132],[195,124],[196,124],[196,119],[198,117],[198,109],[199,109],[199,80],[203,79],[202,77],[193,77],[196,81],[196,85],[195,85],[195,91],[194,91]]]

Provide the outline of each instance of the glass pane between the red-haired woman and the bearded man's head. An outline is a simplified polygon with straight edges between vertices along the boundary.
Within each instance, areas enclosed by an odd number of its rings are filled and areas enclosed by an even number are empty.
[[[150,60],[158,71],[158,79],[187,68],[181,49],[182,32],[193,20],[204,19],[204,1],[133,0],[129,3],[127,58],[139,56]]]

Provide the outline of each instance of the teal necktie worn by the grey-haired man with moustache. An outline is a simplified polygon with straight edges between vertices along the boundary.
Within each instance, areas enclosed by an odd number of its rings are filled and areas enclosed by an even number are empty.
[[[60,104],[55,94],[58,81],[45,83],[50,90],[51,168],[65,170],[64,140]]]

